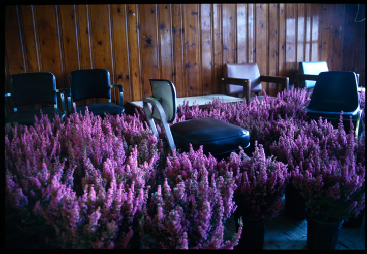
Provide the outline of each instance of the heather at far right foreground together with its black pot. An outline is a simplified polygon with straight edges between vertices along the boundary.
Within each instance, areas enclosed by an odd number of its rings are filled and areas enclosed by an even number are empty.
[[[295,166],[291,182],[307,205],[307,247],[334,249],[343,221],[365,207],[365,134],[362,140],[346,134],[342,122],[338,129],[323,132],[321,123],[308,126],[309,137],[303,138],[313,149]]]

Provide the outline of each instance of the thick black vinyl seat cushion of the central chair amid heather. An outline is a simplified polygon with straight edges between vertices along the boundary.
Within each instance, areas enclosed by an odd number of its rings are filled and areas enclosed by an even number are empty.
[[[215,118],[200,118],[181,121],[171,126],[176,148],[189,151],[191,143],[194,150],[203,145],[204,153],[217,156],[246,148],[250,145],[249,131]]]

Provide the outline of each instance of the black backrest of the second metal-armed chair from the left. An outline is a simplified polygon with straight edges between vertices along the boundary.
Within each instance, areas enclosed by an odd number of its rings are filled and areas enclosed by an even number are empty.
[[[106,69],[72,71],[69,82],[74,102],[92,98],[111,99],[110,73]]]

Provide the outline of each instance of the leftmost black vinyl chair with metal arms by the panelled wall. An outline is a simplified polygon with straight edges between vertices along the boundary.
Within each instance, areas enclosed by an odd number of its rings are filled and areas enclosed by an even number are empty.
[[[6,93],[5,97],[12,99],[14,113],[7,116],[5,110],[5,123],[31,125],[35,116],[41,118],[41,112],[50,120],[55,114],[64,119],[65,90],[56,89],[56,78],[52,73],[17,73],[13,74],[9,81],[10,93]],[[57,93],[60,93],[62,99],[62,110],[57,107]],[[30,107],[33,109],[29,109]]]

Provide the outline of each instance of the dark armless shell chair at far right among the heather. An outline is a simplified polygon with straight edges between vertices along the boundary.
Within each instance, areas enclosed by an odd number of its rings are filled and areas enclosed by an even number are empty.
[[[311,119],[328,119],[335,127],[343,111],[344,129],[350,131],[352,119],[355,134],[360,133],[362,109],[358,97],[357,75],[354,72],[330,71],[318,75],[311,100],[305,107]]]

